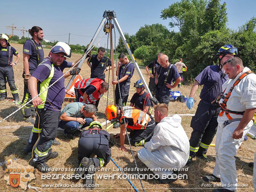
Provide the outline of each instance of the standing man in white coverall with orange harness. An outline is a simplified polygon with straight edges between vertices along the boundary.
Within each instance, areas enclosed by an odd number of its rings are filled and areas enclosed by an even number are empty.
[[[256,111],[256,75],[238,57],[227,60],[223,68],[229,79],[222,85],[223,94],[217,99],[221,112],[215,142],[216,162],[213,173],[203,177],[206,181],[221,182],[223,187],[214,192],[236,191],[234,156],[253,124]]]

